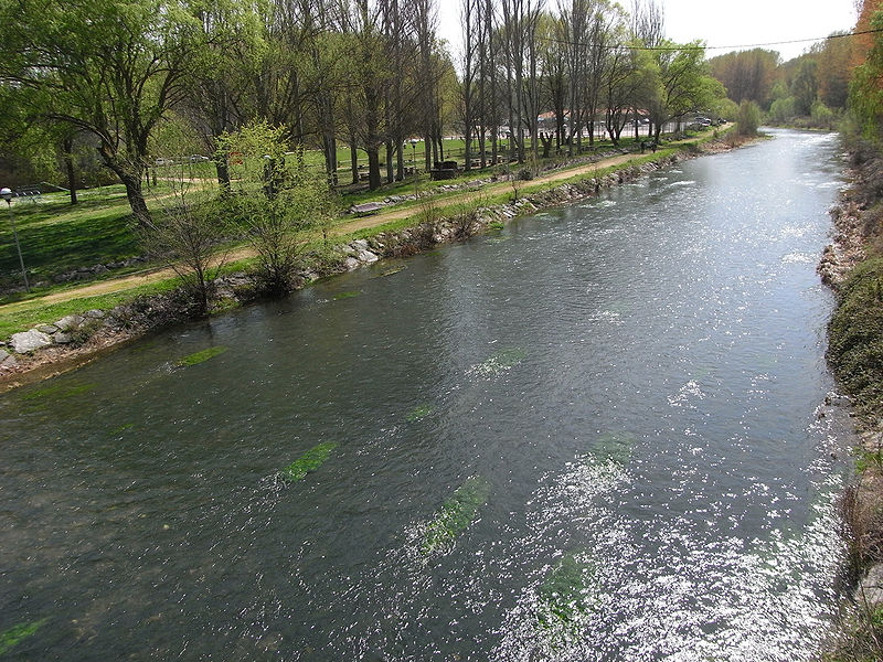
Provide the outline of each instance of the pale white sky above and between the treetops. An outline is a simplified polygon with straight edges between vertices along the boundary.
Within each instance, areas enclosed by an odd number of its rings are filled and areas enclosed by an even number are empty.
[[[631,3],[621,2],[625,7]],[[663,0],[666,34],[683,43],[702,39],[709,46],[741,46],[827,36],[855,24],[853,0]],[[557,0],[546,0],[557,7]],[[459,47],[460,0],[439,0],[439,33]],[[800,55],[812,42],[764,46],[783,60]],[[737,49],[710,50],[709,57]]]

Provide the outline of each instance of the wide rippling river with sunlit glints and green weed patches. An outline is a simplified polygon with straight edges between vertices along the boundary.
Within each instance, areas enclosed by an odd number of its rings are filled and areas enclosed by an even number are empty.
[[[3,396],[4,659],[810,659],[840,168],[776,131]]]

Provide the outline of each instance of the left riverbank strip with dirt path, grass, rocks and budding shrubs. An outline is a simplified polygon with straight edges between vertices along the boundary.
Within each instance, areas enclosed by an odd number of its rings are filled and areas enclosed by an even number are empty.
[[[380,258],[406,257],[438,243],[459,241],[482,228],[499,227],[519,214],[595,195],[642,172],[706,151],[728,149],[738,141],[733,132],[720,139],[717,135],[717,130],[706,130],[652,154],[620,150],[607,152],[608,158],[598,163],[593,163],[589,157],[588,161],[584,158],[560,170],[542,172],[538,167],[536,177],[532,172],[513,173],[507,167],[496,170],[489,183],[471,190],[434,190],[365,218],[334,216],[332,203],[315,195],[316,189],[305,186],[302,180],[288,180],[298,190],[308,190],[307,196],[286,202],[285,217],[294,221],[255,231],[252,222],[236,216],[234,200],[230,207],[234,221],[232,225],[227,222],[227,229],[233,228],[233,243],[219,243],[214,229],[204,231],[204,225],[224,207],[219,207],[215,201],[194,202],[202,195],[198,193],[182,202],[173,214],[173,222],[180,224],[181,242],[178,246],[169,243],[163,255],[174,261],[175,270],[153,270],[83,288],[57,286],[30,298],[12,297],[19,300],[0,307],[0,339],[8,339],[6,346],[0,346],[0,384],[14,387],[24,380],[56,372],[58,367],[53,366],[75,366],[107,346],[151,330],[213,314],[267,295],[278,296],[316,278],[373,264]],[[243,151],[264,153],[266,143],[255,139],[252,147],[240,146]],[[276,185],[284,190],[286,172],[279,171],[274,177],[281,182]],[[515,177],[526,179],[521,181],[519,196],[513,200],[510,182]],[[264,178],[264,171],[249,173],[243,167],[240,185],[262,196],[255,190],[265,183]],[[171,194],[175,194],[172,189],[169,188]],[[272,203],[281,204],[278,197]],[[255,204],[254,200],[248,202]],[[181,206],[189,209],[181,213]],[[254,213],[249,207],[243,215]],[[321,218],[318,227],[307,222],[315,216]],[[242,236],[235,232],[242,233],[243,227],[245,242],[235,243],[236,236]],[[398,266],[383,274],[395,273]],[[100,274],[94,276],[100,277]],[[23,332],[39,342],[17,345],[14,340]],[[46,365],[50,367],[44,372],[35,372]],[[23,377],[25,373],[31,376]]]

